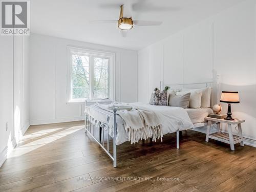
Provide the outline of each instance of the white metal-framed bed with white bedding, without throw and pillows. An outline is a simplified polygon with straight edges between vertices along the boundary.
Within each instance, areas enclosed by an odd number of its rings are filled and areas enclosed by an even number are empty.
[[[211,100],[213,101],[213,99]],[[183,109],[145,103],[130,103],[130,105],[146,107],[158,114],[162,122],[162,135],[176,132],[177,148],[179,148],[179,132],[207,125],[205,117],[212,113],[210,108]],[[124,129],[123,119],[118,115],[118,108],[106,110],[97,105],[88,106],[86,102],[85,123],[85,132],[103,148],[113,160],[113,166],[116,167],[117,145],[129,141],[129,134]],[[107,135],[106,143],[104,143],[104,133]],[[110,153],[109,136],[113,138],[113,154]],[[140,136],[138,136],[138,140],[140,140]]]

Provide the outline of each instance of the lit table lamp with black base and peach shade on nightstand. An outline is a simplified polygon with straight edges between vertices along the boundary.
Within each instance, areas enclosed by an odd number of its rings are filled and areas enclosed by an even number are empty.
[[[231,115],[231,103],[239,103],[238,91],[223,91],[220,102],[227,103],[227,117],[226,120],[234,120]]]

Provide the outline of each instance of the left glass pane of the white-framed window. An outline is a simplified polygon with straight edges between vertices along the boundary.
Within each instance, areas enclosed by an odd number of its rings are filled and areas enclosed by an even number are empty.
[[[72,98],[89,98],[89,73],[90,60],[89,56],[72,55]]]

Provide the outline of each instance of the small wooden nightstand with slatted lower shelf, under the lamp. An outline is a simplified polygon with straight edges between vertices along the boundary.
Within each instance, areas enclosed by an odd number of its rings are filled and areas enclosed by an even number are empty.
[[[230,144],[230,149],[232,151],[234,151],[234,144],[236,144],[236,143],[240,143],[241,146],[244,146],[241,123],[245,122],[245,120],[234,119],[234,120],[230,121],[230,120],[216,119],[216,118],[211,118],[211,117],[206,117],[205,119],[208,120],[207,133],[206,133],[206,139],[205,139],[206,142],[208,142],[209,138],[210,138],[210,139],[215,139],[217,141],[221,141],[224,143],[228,143],[228,144]],[[217,132],[210,134],[210,125],[215,122],[217,123]],[[228,124],[228,134],[220,132],[221,123]],[[231,126],[232,124],[238,125],[239,136],[232,134],[232,126]]]

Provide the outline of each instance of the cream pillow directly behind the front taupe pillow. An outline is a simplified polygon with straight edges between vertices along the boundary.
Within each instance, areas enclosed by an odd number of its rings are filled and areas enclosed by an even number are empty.
[[[190,93],[189,108],[199,109],[201,108],[202,91],[200,90],[189,90],[177,92],[177,95],[184,95]]]

